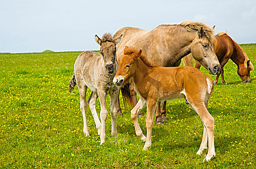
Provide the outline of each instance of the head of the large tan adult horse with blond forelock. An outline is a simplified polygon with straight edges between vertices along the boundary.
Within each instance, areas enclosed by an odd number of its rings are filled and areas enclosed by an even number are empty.
[[[188,27],[190,25],[188,24]],[[197,30],[196,37],[191,44],[192,56],[198,60],[210,74],[218,74],[221,65],[214,52],[213,29],[206,25],[193,25],[192,28],[187,28],[190,31]],[[198,28],[197,28],[198,27]]]

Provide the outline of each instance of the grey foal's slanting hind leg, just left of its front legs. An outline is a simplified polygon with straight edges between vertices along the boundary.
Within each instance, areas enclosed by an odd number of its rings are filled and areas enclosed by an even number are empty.
[[[96,112],[96,100],[98,98],[98,95],[96,92],[92,92],[90,98],[88,99],[88,104],[89,104],[89,108],[93,114],[93,117],[94,117],[94,121],[95,121],[95,124],[96,124],[96,128],[98,130],[98,135],[100,135],[100,132],[101,132],[101,124],[100,124],[100,121],[99,121],[99,118],[98,118],[98,114]]]

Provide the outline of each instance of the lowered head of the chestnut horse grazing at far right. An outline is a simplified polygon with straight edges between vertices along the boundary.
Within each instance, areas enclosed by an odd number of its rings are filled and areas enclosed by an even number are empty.
[[[244,63],[240,63],[238,65],[238,75],[240,76],[243,83],[251,82],[251,70],[254,70],[253,64],[250,62],[248,57],[245,57]]]

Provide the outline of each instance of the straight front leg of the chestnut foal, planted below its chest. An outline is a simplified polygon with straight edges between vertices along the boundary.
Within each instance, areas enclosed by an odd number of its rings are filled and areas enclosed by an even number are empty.
[[[146,142],[143,150],[147,150],[151,147],[151,134],[152,134],[152,127],[154,123],[154,113],[155,113],[157,101],[153,99],[147,99],[146,103],[147,103],[147,117],[146,117],[147,137],[146,137]]]

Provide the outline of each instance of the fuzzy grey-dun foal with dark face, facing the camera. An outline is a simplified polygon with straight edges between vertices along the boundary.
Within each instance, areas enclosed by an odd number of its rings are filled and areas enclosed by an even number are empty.
[[[116,61],[116,44],[120,42],[122,35],[112,38],[110,33],[105,33],[100,39],[95,35],[95,41],[100,45],[100,53],[84,51],[78,56],[75,62],[75,74],[73,74],[69,83],[69,92],[72,93],[75,85],[78,85],[80,93],[80,109],[83,115],[83,132],[89,136],[89,128],[86,119],[86,90],[89,87],[92,94],[88,99],[90,110],[93,114],[98,135],[100,135],[100,144],[105,142],[105,126],[108,116],[106,108],[106,98],[110,95],[111,99],[111,117],[112,117],[112,136],[117,137],[116,131],[116,103],[119,95],[119,87],[113,84],[113,78],[118,69]],[[100,102],[100,119],[96,112],[96,99]]]

